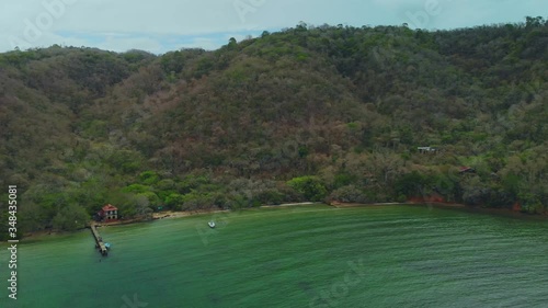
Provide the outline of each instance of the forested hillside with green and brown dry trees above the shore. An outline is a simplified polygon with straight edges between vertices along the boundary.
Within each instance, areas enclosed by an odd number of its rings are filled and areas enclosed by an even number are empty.
[[[105,203],[125,217],[408,198],[545,213],[547,95],[543,18],[299,24],[161,56],[14,50],[0,54],[0,181],[18,185],[23,230],[75,229]]]

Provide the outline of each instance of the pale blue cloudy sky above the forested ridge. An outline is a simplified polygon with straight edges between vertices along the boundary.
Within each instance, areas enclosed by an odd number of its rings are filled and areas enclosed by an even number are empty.
[[[548,0],[3,0],[0,53],[61,46],[163,54],[216,49],[309,25],[447,30],[548,16]]]

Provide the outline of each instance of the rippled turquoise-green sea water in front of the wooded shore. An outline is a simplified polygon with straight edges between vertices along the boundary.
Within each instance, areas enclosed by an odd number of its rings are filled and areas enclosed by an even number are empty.
[[[20,243],[18,300],[3,244],[0,307],[547,307],[547,226],[305,206],[106,227],[107,258],[89,230]]]

